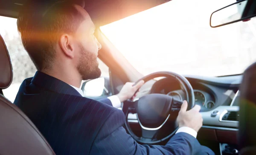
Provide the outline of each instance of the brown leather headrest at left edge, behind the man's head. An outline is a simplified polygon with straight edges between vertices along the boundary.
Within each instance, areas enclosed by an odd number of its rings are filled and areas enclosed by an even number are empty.
[[[12,63],[6,44],[0,35],[0,89],[9,87],[12,83]]]

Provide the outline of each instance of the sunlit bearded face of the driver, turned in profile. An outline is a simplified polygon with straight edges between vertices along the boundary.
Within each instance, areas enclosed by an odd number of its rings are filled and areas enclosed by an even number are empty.
[[[83,80],[96,79],[101,75],[99,62],[97,60],[100,43],[94,36],[95,26],[89,14],[83,8],[77,8],[85,20],[76,31],[79,62],[77,69]]]

